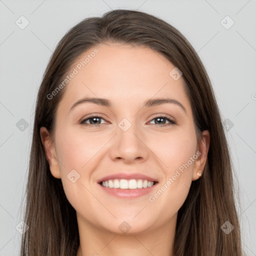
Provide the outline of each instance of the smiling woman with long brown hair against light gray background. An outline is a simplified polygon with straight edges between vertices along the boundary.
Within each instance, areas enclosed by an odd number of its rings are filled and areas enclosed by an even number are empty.
[[[242,255],[229,152],[184,36],[133,10],[58,43],[36,102],[21,255]]]

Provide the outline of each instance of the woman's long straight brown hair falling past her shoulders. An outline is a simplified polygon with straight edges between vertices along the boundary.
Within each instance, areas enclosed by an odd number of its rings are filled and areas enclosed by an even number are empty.
[[[75,209],[68,202],[61,179],[54,178],[45,157],[39,129],[54,131],[56,107],[65,91],[52,92],[81,53],[104,42],[145,45],[162,54],[182,71],[200,131],[210,133],[207,163],[193,181],[178,210],[173,255],[242,255],[240,228],[234,202],[232,165],[208,75],[197,53],[172,25],[150,14],[116,9],[90,17],[72,27],[59,41],[38,91],[30,151],[21,256],[76,255],[79,233]],[[234,229],[220,228],[229,221]]]

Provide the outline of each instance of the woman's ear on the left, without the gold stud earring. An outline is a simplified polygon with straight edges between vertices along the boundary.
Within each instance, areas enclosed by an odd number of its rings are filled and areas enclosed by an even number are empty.
[[[40,137],[44,147],[45,156],[49,163],[51,175],[60,178],[59,164],[56,157],[53,141],[45,127],[40,127]]]

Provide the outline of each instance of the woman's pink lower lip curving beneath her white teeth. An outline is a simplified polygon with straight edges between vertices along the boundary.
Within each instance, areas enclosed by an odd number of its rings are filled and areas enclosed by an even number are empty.
[[[98,184],[105,192],[114,195],[118,198],[136,198],[147,193],[150,193],[157,185],[154,185],[146,188],[135,188],[135,189],[121,189],[121,188],[109,188]]]

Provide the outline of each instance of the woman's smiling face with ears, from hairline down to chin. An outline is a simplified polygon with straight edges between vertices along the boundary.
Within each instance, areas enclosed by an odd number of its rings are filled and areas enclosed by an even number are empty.
[[[176,221],[206,147],[204,139],[197,144],[184,80],[173,68],[150,48],[117,43],[92,47],[74,63],[54,143],[42,140],[78,223],[138,233]]]

